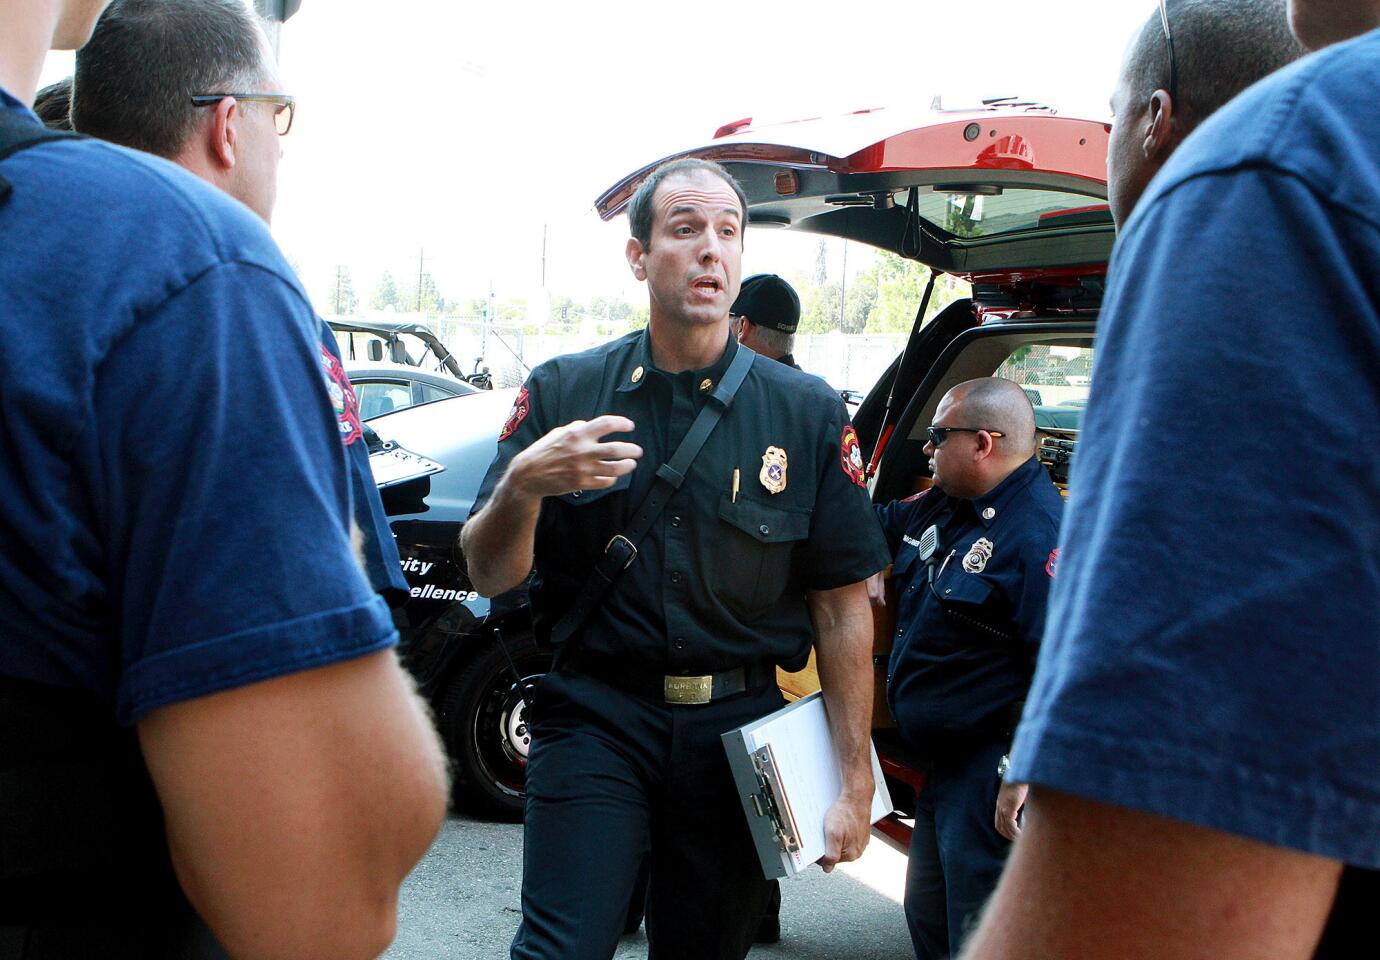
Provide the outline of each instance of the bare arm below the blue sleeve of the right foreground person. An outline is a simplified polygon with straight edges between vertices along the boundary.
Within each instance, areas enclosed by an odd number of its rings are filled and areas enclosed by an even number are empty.
[[[1032,788],[963,960],[1307,960],[1340,865]]]

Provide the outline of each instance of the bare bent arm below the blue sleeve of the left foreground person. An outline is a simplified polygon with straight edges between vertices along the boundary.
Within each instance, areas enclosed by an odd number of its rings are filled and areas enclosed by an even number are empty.
[[[188,898],[237,960],[374,957],[446,814],[444,757],[391,651],[149,714]]]

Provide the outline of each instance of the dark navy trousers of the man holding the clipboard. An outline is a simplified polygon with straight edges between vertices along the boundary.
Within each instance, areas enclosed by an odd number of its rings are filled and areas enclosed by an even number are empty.
[[[558,672],[534,699],[512,956],[611,957],[650,851],[650,960],[741,960],[771,886],[719,735],[780,690],[679,706]]]

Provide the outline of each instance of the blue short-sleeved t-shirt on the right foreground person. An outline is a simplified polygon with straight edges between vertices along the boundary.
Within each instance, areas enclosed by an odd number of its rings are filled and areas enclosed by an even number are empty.
[[[1377,102],[1314,54],[1126,225],[1013,779],[1380,866]]]

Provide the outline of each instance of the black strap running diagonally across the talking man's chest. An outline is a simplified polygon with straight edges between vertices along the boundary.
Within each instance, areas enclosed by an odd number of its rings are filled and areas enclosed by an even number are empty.
[[[584,588],[581,588],[580,596],[575,597],[570,610],[551,628],[552,646],[562,647],[574,636],[575,630],[580,629],[604,594],[609,593],[609,589],[622,577],[622,571],[631,567],[632,561],[638,559],[638,543],[642,542],[642,538],[651,530],[651,524],[661,516],[672,494],[680,490],[686,474],[690,473],[690,465],[700,455],[700,448],[704,447],[704,441],[713,433],[713,428],[719,425],[719,421],[729,411],[729,407],[733,404],[733,396],[742,386],[742,381],[747,379],[748,368],[752,367],[755,357],[756,354],[752,350],[741,343],[738,345],[738,352],[733,356],[727,372],[719,381],[719,386],[715,388],[713,393],[709,394],[709,401],[700,408],[700,415],[694,418],[680,446],[671,454],[671,459],[657,468],[657,479],[633,512],[632,523],[628,524],[627,530],[609,541],[603,556],[595,564],[593,572],[585,581]]]

